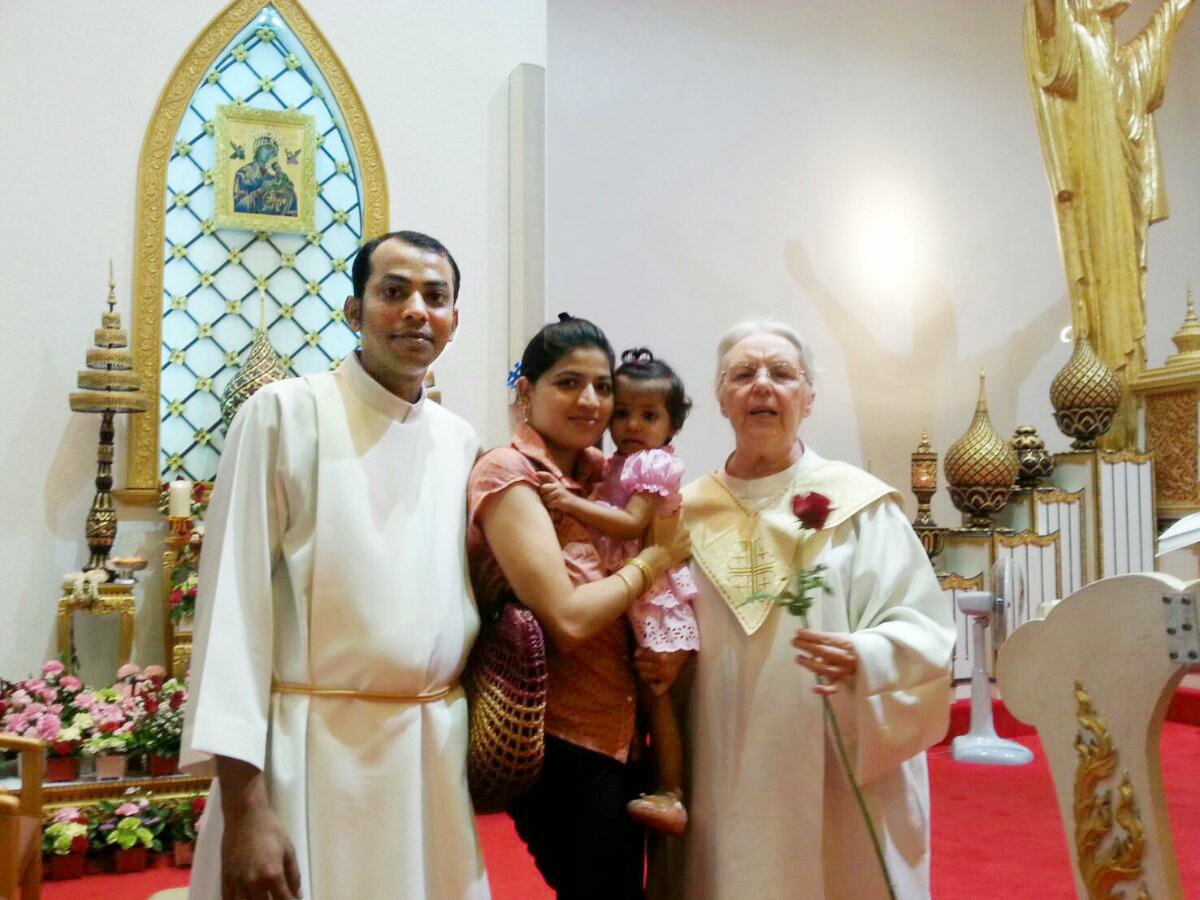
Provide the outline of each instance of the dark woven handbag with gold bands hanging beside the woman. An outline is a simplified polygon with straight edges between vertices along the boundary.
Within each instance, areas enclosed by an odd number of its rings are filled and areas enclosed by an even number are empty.
[[[538,780],[546,750],[546,642],[538,618],[516,600],[502,602],[484,623],[462,682],[470,797],[478,812],[498,812]]]

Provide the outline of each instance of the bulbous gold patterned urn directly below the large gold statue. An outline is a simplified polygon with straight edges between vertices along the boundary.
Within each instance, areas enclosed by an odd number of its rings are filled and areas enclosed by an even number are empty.
[[[1075,349],[1050,383],[1050,403],[1058,430],[1073,450],[1094,450],[1121,406],[1121,382],[1088,341],[1087,326],[1075,329]]]

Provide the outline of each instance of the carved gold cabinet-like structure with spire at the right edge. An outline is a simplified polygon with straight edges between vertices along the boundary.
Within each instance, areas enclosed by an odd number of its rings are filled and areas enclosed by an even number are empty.
[[[1133,390],[1142,410],[1142,440],[1154,455],[1154,498],[1160,518],[1200,512],[1200,319],[1188,292],[1187,314],[1175,332],[1176,353],[1147,368]]]

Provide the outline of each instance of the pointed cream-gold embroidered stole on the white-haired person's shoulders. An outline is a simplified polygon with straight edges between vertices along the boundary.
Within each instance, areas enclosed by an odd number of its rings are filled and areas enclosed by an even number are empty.
[[[691,539],[692,559],[748,635],[762,626],[775,604],[746,599],[760,590],[776,593],[796,571],[802,552],[810,559],[816,554],[818,541],[802,542],[792,515],[792,497],[812,492],[828,497],[833,508],[824,527],[811,538],[828,538],[833,528],[881,497],[899,498],[892,487],[845,462],[822,462],[800,472],[757,512],[743,505],[715,474],[683,490],[680,524]]]

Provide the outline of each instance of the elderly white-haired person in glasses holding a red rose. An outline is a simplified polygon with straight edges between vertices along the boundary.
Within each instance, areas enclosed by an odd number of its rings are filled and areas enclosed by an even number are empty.
[[[724,468],[684,490],[700,588],[689,701],[691,826],[670,893],[703,898],[874,898],[886,887],[841,772],[818,694],[830,696],[899,896],[929,895],[925,748],[947,727],[950,610],[895,492],[830,462],[797,430],[812,358],[775,322],[732,329],[716,395],[733,427]],[[818,530],[797,494],[823,494]],[[823,566],[808,628],[772,602],[798,564]],[[799,667],[796,664],[799,664]],[[652,682],[668,660],[640,660]]]

